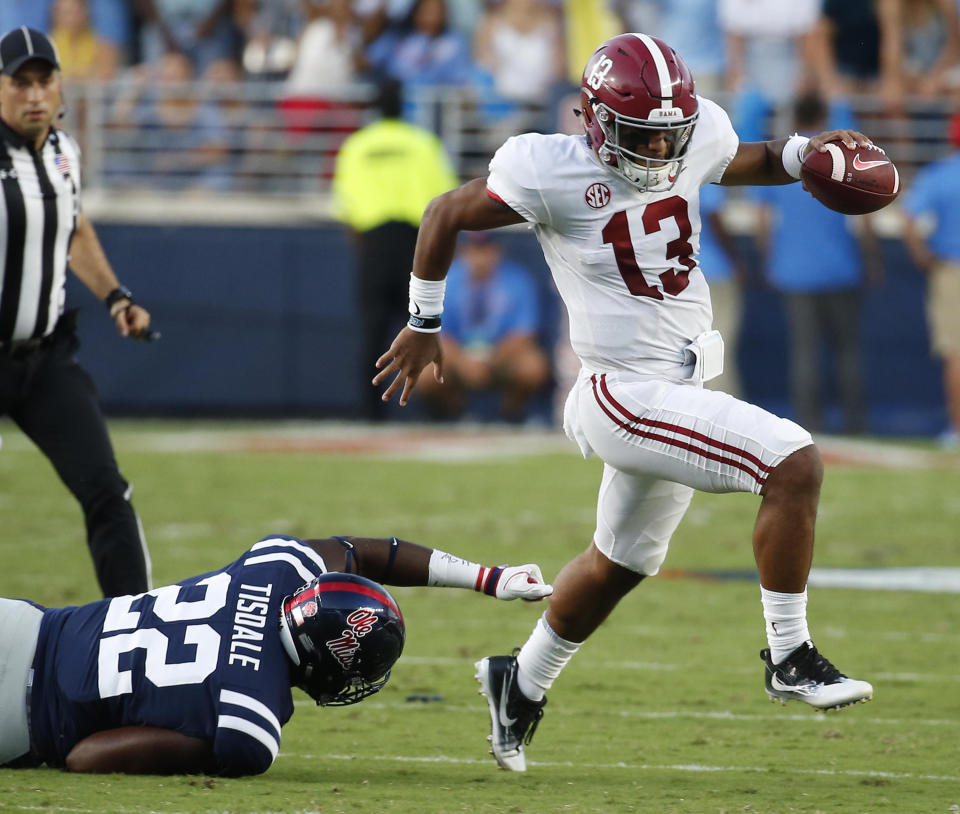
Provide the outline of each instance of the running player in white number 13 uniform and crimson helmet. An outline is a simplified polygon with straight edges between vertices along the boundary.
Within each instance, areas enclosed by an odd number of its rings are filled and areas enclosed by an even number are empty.
[[[820,655],[806,583],[823,465],[802,427],[722,392],[723,342],[697,267],[705,184],[789,184],[809,150],[862,133],[741,143],[726,113],[698,98],[680,56],[645,34],[603,43],[587,63],[585,136],[509,139],[477,179],[436,198],[420,227],[408,325],[377,361],[383,398],[406,404],[421,371],[442,379],[443,280],[457,233],[528,221],[570,317],[580,358],[564,429],[604,461],[597,525],[557,576],[550,606],[516,658],[477,664],[492,751],[523,771],[524,740],[545,691],[583,641],[644,577],[656,574],[695,489],[753,492],[753,533],[769,648],[771,698],[818,709],[866,701],[873,688]]]

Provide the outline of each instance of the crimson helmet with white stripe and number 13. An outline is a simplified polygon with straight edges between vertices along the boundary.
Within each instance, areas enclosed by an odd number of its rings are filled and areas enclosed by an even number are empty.
[[[597,157],[641,191],[670,189],[683,168],[697,121],[697,97],[686,63],[647,34],[620,34],[587,61],[580,110]],[[663,157],[638,149],[666,142]]]

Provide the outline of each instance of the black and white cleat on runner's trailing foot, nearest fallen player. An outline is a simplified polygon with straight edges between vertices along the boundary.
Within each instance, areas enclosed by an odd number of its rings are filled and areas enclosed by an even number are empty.
[[[547,699],[531,701],[520,692],[515,656],[489,656],[475,666],[480,694],[490,707],[490,752],[501,768],[525,772],[523,745],[533,738]]]

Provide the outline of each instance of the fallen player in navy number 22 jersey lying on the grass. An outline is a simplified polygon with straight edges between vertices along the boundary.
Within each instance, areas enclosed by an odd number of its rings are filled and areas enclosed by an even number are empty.
[[[380,582],[552,591],[536,565],[486,568],[396,538],[273,536],[147,593],[66,608],[0,599],[0,765],[264,772],[292,686],[326,706],[386,683],[405,630]]]

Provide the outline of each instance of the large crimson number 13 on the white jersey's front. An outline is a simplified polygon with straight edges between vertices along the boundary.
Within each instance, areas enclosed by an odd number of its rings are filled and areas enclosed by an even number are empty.
[[[689,285],[690,272],[697,265],[693,259],[693,245],[690,243],[693,229],[687,215],[687,201],[677,195],[653,201],[644,207],[641,222],[644,234],[652,235],[660,231],[660,224],[663,221],[671,219],[676,222],[680,233],[673,240],[667,241],[665,259],[676,258],[677,262],[684,266],[684,270],[664,271],[660,274],[660,282],[667,294],[676,296]],[[630,293],[635,297],[653,297],[655,300],[662,300],[663,293],[644,279],[643,272],[637,264],[626,211],[614,212],[601,234],[603,242],[613,246],[617,268]]]

